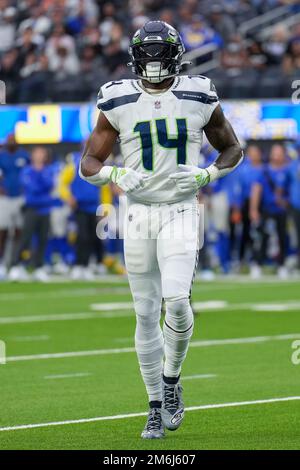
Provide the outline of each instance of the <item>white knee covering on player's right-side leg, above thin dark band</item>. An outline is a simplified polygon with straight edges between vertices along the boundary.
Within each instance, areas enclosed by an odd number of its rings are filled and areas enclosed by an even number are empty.
[[[165,323],[177,333],[193,332],[193,311],[189,298],[173,298],[166,300]]]

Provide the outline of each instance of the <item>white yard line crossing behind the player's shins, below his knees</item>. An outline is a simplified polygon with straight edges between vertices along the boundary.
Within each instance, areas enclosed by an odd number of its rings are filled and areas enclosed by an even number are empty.
[[[252,336],[249,338],[225,338],[225,339],[210,339],[191,341],[191,348],[209,347],[209,346],[226,346],[233,344],[251,344],[251,343],[266,343],[269,341],[285,341],[300,338],[300,333],[291,333],[286,335],[274,336]],[[85,356],[103,356],[108,354],[126,354],[135,352],[134,347],[129,348],[113,348],[113,349],[95,349],[88,351],[70,351],[50,354],[33,354],[26,356],[8,356],[7,362],[20,362],[20,361],[35,361],[43,359],[63,359],[70,357],[85,357]]]

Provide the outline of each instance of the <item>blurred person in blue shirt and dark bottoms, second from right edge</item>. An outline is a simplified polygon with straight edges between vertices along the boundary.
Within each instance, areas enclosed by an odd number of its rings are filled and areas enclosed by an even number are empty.
[[[288,207],[288,167],[284,147],[274,144],[270,152],[270,163],[258,175],[250,198],[250,219],[255,228],[256,243],[252,276],[260,277],[261,266],[266,259],[268,240],[277,235],[278,275],[287,277],[284,265],[286,257],[286,223]]]

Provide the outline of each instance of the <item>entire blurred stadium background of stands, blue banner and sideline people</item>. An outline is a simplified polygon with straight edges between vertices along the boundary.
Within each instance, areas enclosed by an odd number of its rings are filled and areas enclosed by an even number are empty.
[[[299,1],[0,0],[1,280],[125,274],[121,237],[96,236],[97,207],[122,213],[120,191],[77,170],[99,87],[132,78],[129,39],[150,19],[180,31],[183,73],[213,79],[246,154],[200,194],[199,275],[299,273]],[[199,166],[215,158],[205,143]],[[122,165],[118,146],[110,160]]]

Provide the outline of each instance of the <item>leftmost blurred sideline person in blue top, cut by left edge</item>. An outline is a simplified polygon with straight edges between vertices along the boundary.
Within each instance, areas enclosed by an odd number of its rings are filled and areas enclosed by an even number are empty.
[[[22,226],[20,175],[28,162],[28,153],[17,145],[14,135],[9,135],[0,152],[0,278],[9,263],[10,256],[6,252],[8,236],[15,242]],[[4,259],[4,255],[8,259]]]

